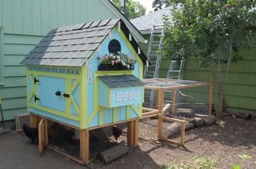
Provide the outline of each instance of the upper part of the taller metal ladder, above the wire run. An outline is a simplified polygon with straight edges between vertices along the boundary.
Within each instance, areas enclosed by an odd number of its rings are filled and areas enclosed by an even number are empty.
[[[163,38],[164,29],[161,29],[161,33],[156,32],[156,27],[163,27],[162,25],[152,26],[149,51],[147,51],[147,59],[149,59],[151,65],[145,67],[144,69],[144,79],[158,78],[160,61],[161,61],[161,51],[163,50]],[[160,37],[160,40],[158,39]]]

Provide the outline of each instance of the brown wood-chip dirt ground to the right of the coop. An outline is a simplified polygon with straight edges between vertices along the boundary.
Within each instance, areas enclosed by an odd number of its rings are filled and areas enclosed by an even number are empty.
[[[158,142],[157,119],[143,119],[139,123],[139,146],[130,147],[130,153],[100,168],[160,168],[174,165],[190,157],[207,157],[217,161],[217,168],[256,168],[256,119],[224,117],[217,125],[192,129],[185,133],[185,146]],[[252,159],[242,161],[238,154]],[[92,165],[93,166],[93,165]],[[98,168],[98,167],[97,167]]]

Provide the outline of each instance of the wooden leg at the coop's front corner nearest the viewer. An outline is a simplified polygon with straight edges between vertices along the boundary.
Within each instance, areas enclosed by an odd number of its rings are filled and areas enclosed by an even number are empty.
[[[89,163],[89,130],[80,130],[80,158],[84,164]]]

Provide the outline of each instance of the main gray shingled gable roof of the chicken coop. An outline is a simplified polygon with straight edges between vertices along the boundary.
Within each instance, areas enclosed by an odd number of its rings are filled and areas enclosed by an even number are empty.
[[[21,64],[49,66],[83,66],[102,41],[120,22],[120,29],[127,39],[130,32],[121,19],[107,19],[73,26],[58,27],[51,30],[33,50],[26,55]],[[135,51],[137,42],[130,39]],[[140,50],[138,55],[146,64],[147,58]]]

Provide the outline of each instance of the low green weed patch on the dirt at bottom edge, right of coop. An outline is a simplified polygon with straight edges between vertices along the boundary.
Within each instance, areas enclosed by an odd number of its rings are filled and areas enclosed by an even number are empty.
[[[162,169],[212,169],[216,167],[216,161],[206,157],[193,157],[188,159],[186,163],[175,166],[162,166]]]

